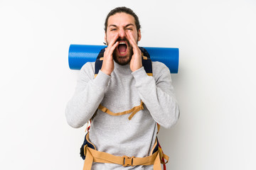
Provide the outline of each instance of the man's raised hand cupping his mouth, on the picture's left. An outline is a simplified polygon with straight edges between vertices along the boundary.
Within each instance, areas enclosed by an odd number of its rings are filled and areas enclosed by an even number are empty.
[[[115,42],[117,38],[118,34],[114,36],[110,44],[105,48],[101,71],[107,75],[110,75],[114,70],[113,52],[119,43]]]

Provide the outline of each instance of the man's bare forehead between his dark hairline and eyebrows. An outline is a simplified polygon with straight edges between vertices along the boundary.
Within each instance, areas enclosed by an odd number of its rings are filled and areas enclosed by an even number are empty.
[[[108,18],[107,27],[110,25],[126,26],[129,23],[132,23],[135,26],[135,20],[133,16],[128,13],[115,13],[113,16]]]

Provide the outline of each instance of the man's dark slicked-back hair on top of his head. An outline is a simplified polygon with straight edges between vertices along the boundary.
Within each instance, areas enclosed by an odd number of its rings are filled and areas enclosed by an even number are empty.
[[[137,30],[140,29],[141,26],[139,24],[138,16],[134,13],[134,11],[132,11],[132,9],[122,6],[122,7],[117,7],[117,8],[112,9],[112,11],[110,11],[110,13],[107,14],[107,18],[105,20],[105,32],[107,32],[108,18],[110,18],[110,16],[114,16],[114,14],[116,14],[116,13],[127,13],[127,14],[133,16]]]

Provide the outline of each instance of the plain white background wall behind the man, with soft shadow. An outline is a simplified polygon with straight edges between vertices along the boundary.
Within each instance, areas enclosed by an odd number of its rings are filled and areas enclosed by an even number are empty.
[[[0,1],[0,169],[82,169],[85,127],[65,105],[78,71],[70,44],[103,45],[116,6],[141,21],[144,47],[178,47],[178,123],[161,129],[168,169],[256,169],[256,2]]]

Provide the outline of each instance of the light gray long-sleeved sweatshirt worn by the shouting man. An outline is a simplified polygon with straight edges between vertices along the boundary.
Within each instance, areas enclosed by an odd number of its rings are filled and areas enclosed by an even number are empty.
[[[129,64],[114,62],[111,76],[99,72],[95,75],[95,62],[87,62],[73,98],[68,102],[65,115],[68,124],[80,128],[92,115],[90,142],[100,152],[116,156],[149,156],[156,140],[157,125],[170,128],[179,117],[179,108],[171,85],[171,74],[161,62],[152,62],[153,77],[144,67],[132,72]],[[97,107],[108,108],[113,113],[128,111],[144,102],[144,110],[129,120],[129,115],[109,115]],[[152,166],[128,166],[93,163],[92,169],[152,169]]]

